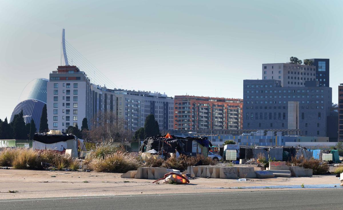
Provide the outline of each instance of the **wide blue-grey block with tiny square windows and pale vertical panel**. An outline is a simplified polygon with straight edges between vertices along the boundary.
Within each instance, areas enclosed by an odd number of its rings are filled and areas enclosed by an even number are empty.
[[[243,85],[244,129],[301,129],[305,136],[327,136],[330,87],[307,80],[305,87],[283,87],[280,80],[244,80]]]

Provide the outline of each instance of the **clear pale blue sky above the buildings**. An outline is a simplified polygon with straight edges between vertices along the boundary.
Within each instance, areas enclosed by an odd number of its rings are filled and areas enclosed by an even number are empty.
[[[2,1],[0,118],[24,86],[48,78],[66,39],[118,87],[243,97],[261,64],[330,58],[342,79],[343,1]],[[103,85],[103,84],[102,84]]]

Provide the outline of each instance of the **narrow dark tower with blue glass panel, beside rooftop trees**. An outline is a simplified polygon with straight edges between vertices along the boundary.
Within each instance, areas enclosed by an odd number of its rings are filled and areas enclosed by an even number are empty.
[[[316,81],[320,86],[330,87],[330,59],[312,58],[309,59],[316,67]]]

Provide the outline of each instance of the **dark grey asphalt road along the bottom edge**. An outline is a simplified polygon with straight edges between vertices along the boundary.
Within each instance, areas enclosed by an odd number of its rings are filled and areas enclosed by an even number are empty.
[[[12,199],[0,209],[343,209],[343,190]]]

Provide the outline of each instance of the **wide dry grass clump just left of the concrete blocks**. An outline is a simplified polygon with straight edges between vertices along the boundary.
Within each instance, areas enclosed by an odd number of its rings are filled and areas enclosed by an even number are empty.
[[[90,168],[96,172],[125,173],[142,166],[143,164],[135,157],[121,151],[95,158],[90,162]]]

